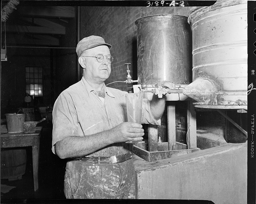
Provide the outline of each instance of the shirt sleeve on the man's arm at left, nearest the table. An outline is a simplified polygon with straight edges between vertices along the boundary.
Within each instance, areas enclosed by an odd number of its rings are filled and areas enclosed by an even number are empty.
[[[72,97],[61,93],[54,103],[52,111],[52,152],[54,145],[69,136],[78,136],[78,117]]]

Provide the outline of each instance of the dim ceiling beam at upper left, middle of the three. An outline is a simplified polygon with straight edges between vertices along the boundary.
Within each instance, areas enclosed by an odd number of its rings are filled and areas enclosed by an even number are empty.
[[[65,35],[66,29],[41,26],[6,26],[6,32]]]

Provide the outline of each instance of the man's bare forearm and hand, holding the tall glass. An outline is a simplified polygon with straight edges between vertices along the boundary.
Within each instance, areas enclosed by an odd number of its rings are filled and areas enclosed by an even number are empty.
[[[105,130],[83,137],[70,136],[55,144],[59,158],[81,157],[91,154],[107,145],[143,139],[144,130],[141,124],[123,122],[110,130]]]

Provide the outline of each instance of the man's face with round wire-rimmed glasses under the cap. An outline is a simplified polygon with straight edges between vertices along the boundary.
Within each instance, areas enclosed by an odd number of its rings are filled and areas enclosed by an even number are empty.
[[[97,55],[103,55],[103,62],[98,62],[95,58]],[[85,60],[85,69],[84,77],[93,81],[95,83],[102,83],[108,79],[111,73],[111,63],[106,59],[106,56],[110,55],[108,46],[100,45],[95,48],[91,48],[82,53],[82,56],[92,56],[92,57],[83,57]]]

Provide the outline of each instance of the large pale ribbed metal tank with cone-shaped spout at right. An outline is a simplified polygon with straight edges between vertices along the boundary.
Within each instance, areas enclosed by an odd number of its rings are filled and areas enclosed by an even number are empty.
[[[247,1],[197,7],[188,22],[193,83],[183,93],[202,108],[247,107]]]

